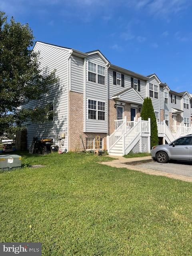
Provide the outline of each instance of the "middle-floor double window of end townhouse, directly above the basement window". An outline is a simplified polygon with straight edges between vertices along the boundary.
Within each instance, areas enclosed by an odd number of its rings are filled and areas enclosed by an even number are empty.
[[[105,102],[88,99],[88,119],[105,120]]]

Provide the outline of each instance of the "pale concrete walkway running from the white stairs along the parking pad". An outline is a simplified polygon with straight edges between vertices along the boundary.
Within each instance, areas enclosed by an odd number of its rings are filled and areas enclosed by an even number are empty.
[[[109,156],[109,157],[115,158],[115,160],[112,160],[109,162],[101,162],[101,164],[106,164],[108,166],[116,167],[116,168],[127,168],[129,170],[136,170],[139,172],[144,172],[146,174],[157,175],[157,176],[166,176],[168,178],[192,182],[192,177],[182,176],[182,175],[169,173],[169,172],[162,172],[162,171],[158,171],[158,170],[139,168],[136,165],[134,165],[134,163],[133,163],[133,162],[137,162],[137,161],[150,160],[151,156],[136,157],[136,158],[124,158],[123,156]],[[128,164],[129,162],[130,162],[130,164]]]

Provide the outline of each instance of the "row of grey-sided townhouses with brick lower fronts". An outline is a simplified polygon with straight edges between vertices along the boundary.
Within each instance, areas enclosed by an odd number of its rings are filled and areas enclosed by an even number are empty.
[[[100,148],[108,148],[110,152],[109,147],[112,148],[117,141],[122,146],[122,143],[128,144],[134,139],[117,137],[114,131],[122,121],[115,120],[125,120],[123,133],[129,133],[140,117],[147,96],[152,99],[159,129],[164,129],[160,123],[163,121],[174,133],[178,132],[180,124],[191,126],[192,95],[170,90],[156,74],[144,76],[115,66],[99,50],[84,53],[43,42],[36,42],[33,50],[40,52],[41,68],[46,72],[56,69],[59,83],[50,85],[49,92],[42,95],[41,100],[31,101],[25,106],[34,108],[49,104],[48,121],[28,126],[28,147],[37,136],[53,138],[54,144],[60,144],[60,149],[67,152],[82,150],[82,135],[85,148],[90,150],[94,148],[95,136],[99,135]],[[147,127],[148,124],[142,125]],[[146,137],[136,143],[140,143],[142,151],[141,144],[144,141],[148,144],[150,131],[144,133]],[[165,140],[164,133],[159,131],[159,136]],[[107,136],[110,136],[108,142]],[[122,150],[119,154],[126,152]]]

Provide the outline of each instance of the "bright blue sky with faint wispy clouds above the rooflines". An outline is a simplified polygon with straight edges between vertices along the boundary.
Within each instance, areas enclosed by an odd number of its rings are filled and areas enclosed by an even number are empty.
[[[0,10],[28,23],[36,40],[99,49],[117,66],[192,93],[191,0],[0,0]]]

